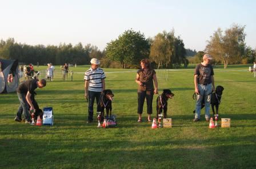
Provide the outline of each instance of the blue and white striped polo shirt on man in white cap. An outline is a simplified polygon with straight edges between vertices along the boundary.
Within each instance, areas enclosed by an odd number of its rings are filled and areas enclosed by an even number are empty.
[[[89,81],[89,88],[90,91],[102,91],[102,79],[105,79],[106,75],[101,68],[97,68],[96,70],[89,69],[85,72],[85,81]]]

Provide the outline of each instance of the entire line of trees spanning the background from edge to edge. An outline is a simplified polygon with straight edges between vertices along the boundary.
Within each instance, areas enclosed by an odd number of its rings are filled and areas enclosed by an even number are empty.
[[[174,35],[174,30],[163,31],[153,38],[146,38],[140,31],[126,30],[113,41],[107,43],[104,50],[97,46],[82,43],[71,45],[61,43],[54,45],[26,45],[17,43],[13,38],[0,42],[0,57],[4,59],[18,59],[25,64],[37,63],[41,65],[53,63],[73,63],[77,65],[90,64],[91,58],[101,59],[102,67],[138,68],[139,61],[149,58],[153,67],[177,68],[186,67],[189,63],[201,62],[203,54],[210,54],[215,63],[228,64],[253,63],[256,58],[255,49],[246,46],[245,26],[233,24],[229,29],[214,31],[207,41],[204,51],[185,49],[181,37]],[[194,56],[194,57],[191,57]]]

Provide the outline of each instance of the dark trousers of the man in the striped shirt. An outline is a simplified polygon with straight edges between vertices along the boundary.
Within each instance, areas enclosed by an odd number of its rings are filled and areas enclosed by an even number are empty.
[[[94,104],[94,100],[96,98],[96,102],[97,102],[97,111],[101,111],[101,106],[99,105],[100,101],[99,100],[101,98],[101,92],[97,92],[97,91],[88,91],[88,120],[90,122],[93,121],[93,104]]]

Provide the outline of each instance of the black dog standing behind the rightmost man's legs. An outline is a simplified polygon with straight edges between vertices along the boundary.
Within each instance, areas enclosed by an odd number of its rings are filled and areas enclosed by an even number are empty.
[[[221,95],[224,87],[217,86],[215,92],[211,94],[211,110],[213,110],[213,114],[215,114],[214,106],[216,108],[216,114],[219,114],[219,104],[221,104]],[[202,98],[201,109],[205,107],[205,97]],[[195,110],[193,111],[195,113]]]

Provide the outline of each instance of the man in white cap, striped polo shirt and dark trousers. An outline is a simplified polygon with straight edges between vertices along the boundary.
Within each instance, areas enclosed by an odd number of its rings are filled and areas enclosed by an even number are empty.
[[[98,59],[91,59],[91,68],[85,72],[85,98],[89,100],[87,123],[93,122],[93,104],[95,98],[97,101],[97,111],[101,111],[98,103],[102,90],[105,90],[106,75],[101,68],[98,68],[99,64]]]

